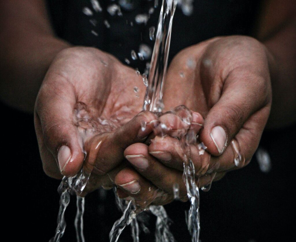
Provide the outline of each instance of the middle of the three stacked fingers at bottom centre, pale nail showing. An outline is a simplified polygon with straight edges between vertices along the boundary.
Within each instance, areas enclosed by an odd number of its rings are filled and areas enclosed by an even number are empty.
[[[148,146],[136,143],[124,151],[124,156],[133,167],[147,180],[151,181],[157,188],[172,194],[174,183],[183,184],[180,186],[180,195],[187,194],[183,183],[183,172],[171,169],[158,162],[148,153]]]

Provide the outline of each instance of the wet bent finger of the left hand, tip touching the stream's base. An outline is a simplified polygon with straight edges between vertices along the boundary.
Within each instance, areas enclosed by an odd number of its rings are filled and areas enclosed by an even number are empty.
[[[145,141],[156,120],[157,117],[153,113],[140,112],[114,133],[98,134],[91,138],[86,145],[86,169],[96,175],[107,174],[123,161],[126,147]]]

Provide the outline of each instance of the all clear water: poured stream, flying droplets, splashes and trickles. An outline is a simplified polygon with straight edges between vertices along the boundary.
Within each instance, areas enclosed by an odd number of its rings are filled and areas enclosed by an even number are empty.
[[[158,6],[158,0],[155,0],[155,7]],[[170,36],[172,31],[172,23],[173,23],[173,16],[176,9],[176,5],[180,4],[182,11],[186,15],[190,15],[192,12],[192,0],[184,0],[184,1],[177,1],[177,0],[163,0],[160,16],[158,20],[157,25],[157,32],[156,37],[155,35],[155,27],[149,28],[149,36],[151,40],[154,40],[155,38],[155,45],[152,52],[152,59],[151,63],[147,63],[147,68],[143,74],[143,82],[144,85],[147,86],[146,95],[144,98],[144,104],[143,104],[143,110],[149,110],[152,112],[162,112],[164,105],[163,105],[163,85],[165,81],[165,75],[167,71],[167,64],[168,64],[168,54],[169,54],[169,48],[170,48]],[[91,0],[91,5],[95,12],[101,12],[102,8],[100,7],[100,4],[96,0]],[[119,1],[119,5],[124,8],[133,8],[132,4],[130,4],[129,1]],[[108,6],[107,11],[110,15],[119,15],[121,16],[121,9],[120,6],[117,4],[111,4]],[[149,9],[149,14],[138,14],[136,16],[136,23],[138,24],[146,24],[147,20],[150,16],[150,14],[153,14],[154,9]],[[92,16],[93,12],[88,7],[83,8],[83,13]],[[91,19],[92,25],[96,25],[96,21],[94,19]],[[104,22],[107,28],[110,27],[110,24],[107,22],[107,20]],[[131,22],[132,24],[132,22]],[[94,35],[97,33],[94,32]],[[149,47],[145,45],[141,45],[139,47],[139,52],[136,53],[134,50],[131,51],[131,58],[133,60],[139,59],[149,59],[151,55],[151,50]],[[128,59],[125,60],[127,64],[130,63]],[[190,60],[188,60],[187,63],[188,66],[191,65]],[[149,72],[148,78],[147,74]],[[137,71],[137,74],[138,71]],[[180,74],[181,75],[181,74]],[[137,93],[138,87],[134,87],[134,92]],[[85,112],[83,112],[83,104],[81,104],[77,108],[76,116],[78,119],[78,122],[81,123],[84,122],[84,124],[87,126],[90,122],[89,117]],[[180,106],[171,111],[173,114],[179,116],[183,122],[186,122],[188,125],[190,125],[190,122],[192,120],[192,114],[190,111],[184,107]],[[185,114],[185,115],[184,115]],[[105,123],[106,120],[97,120],[96,122],[99,122],[99,124]],[[110,123],[108,122],[108,125]],[[116,126],[116,125],[115,125]],[[146,128],[146,124],[142,125],[142,128]],[[159,127],[158,127],[159,128]],[[165,125],[160,124],[160,129],[162,129],[165,133]],[[87,130],[87,129],[86,129]],[[95,131],[99,130],[90,130],[86,133],[82,133],[83,136],[90,136]],[[180,138],[180,146],[184,150],[184,172],[183,172],[183,179],[184,183],[186,185],[187,190],[187,196],[190,201],[190,209],[188,211],[188,214],[186,216],[186,223],[188,225],[189,233],[192,236],[192,242],[198,242],[199,241],[199,233],[200,233],[200,222],[199,222],[199,203],[200,203],[200,196],[199,196],[199,187],[198,187],[198,181],[195,180],[195,170],[194,165],[190,159],[190,142],[192,140],[196,140],[196,137],[190,137],[192,133],[190,132],[184,132],[184,135]],[[233,147],[233,151],[235,154],[234,163],[237,166],[241,166],[244,163],[243,157],[240,155],[239,147],[235,142],[231,143]],[[201,143],[199,144],[200,148],[200,155],[204,154],[206,147]],[[62,182],[59,186],[59,193],[61,195],[60,197],[60,208],[59,208],[59,214],[57,219],[57,229],[55,232],[54,237],[50,240],[50,242],[53,241],[60,241],[60,238],[62,238],[66,222],[65,222],[65,210],[70,202],[70,193],[76,193],[77,194],[77,213],[75,217],[75,229],[76,229],[76,237],[78,242],[84,242],[84,235],[83,235],[83,212],[84,212],[84,198],[81,198],[79,195],[81,195],[83,189],[85,188],[90,174],[87,174],[83,169],[75,176],[70,178],[63,178]],[[212,180],[215,177],[215,175],[212,176]],[[208,191],[210,189],[211,183],[207,186],[203,187],[202,190]],[[178,184],[173,185],[173,192],[174,192],[174,198],[179,199],[179,187]],[[131,225],[131,235],[133,238],[133,242],[139,242],[139,231],[140,228],[147,233],[149,230],[145,225],[145,222],[143,217],[146,217],[147,213],[143,212],[145,209],[150,211],[152,214],[154,214],[157,217],[156,220],[156,232],[155,232],[155,241],[156,242],[167,242],[167,241],[175,241],[173,234],[169,230],[169,218],[167,216],[167,213],[163,206],[154,206],[151,205],[153,200],[159,196],[163,196],[163,192],[156,191],[155,196],[152,198],[151,201],[146,202],[146,207],[139,209],[139,206],[133,201],[130,200],[129,202],[126,202],[122,199],[119,199],[116,196],[116,204],[118,208],[123,212],[123,215],[120,219],[118,219],[110,231],[109,237],[111,242],[117,242],[119,239],[120,234],[124,230],[124,228],[128,225]],[[145,216],[141,216],[141,215]]]

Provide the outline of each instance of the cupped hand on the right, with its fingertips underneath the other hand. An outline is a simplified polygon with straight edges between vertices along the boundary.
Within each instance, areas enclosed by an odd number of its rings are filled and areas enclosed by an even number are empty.
[[[229,170],[244,167],[258,147],[271,108],[266,48],[250,37],[229,36],[210,39],[182,50],[170,64],[164,103],[166,110],[185,105],[205,118],[199,140],[213,156],[210,159],[196,158],[196,171],[203,168],[202,173],[206,173],[200,178],[200,183],[203,179],[204,183],[212,179],[208,173],[218,172],[216,178],[221,178]],[[186,195],[182,160],[175,140],[170,136],[156,138],[149,146],[136,143],[126,149],[125,157],[129,156],[127,158],[133,167],[146,179],[130,169],[119,172],[115,178],[117,185],[136,180],[141,183],[143,191],[135,195],[120,189],[121,197],[132,196],[146,201],[152,193],[146,188],[154,188],[152,184],[155,189],[158,187],[166,192],[167,196],[157,199],[157,204],[165,204],[172,201],[172,187],[176,182],[180,185],[180,192]],[[242,155],[239,164],[234,162],[235,149]],[[144,169],[136,167],[136,163],[143,162],[140,159],[132,161],[131,155],[146,158],[148,166]]]

